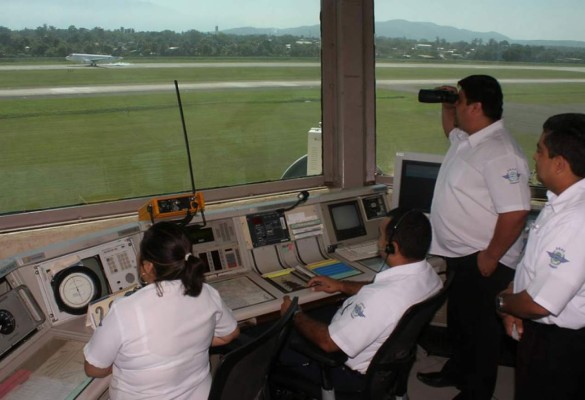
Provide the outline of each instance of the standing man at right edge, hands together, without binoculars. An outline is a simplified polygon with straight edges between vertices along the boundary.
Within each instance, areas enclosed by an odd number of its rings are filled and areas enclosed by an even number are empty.
[[[550,117],[534,160],[548,202],[513,285],[496,298],[520,339],[515,399],[585,399],[585,114]]]

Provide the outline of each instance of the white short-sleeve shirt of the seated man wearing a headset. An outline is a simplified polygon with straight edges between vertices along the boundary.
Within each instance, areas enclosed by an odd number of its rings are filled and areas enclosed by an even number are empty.
[[[379,272],[374,282],[345,300],[329,324],[329,335],[345,354],[346,365],[365,373],[404,312],[443,286],[426,261]]]

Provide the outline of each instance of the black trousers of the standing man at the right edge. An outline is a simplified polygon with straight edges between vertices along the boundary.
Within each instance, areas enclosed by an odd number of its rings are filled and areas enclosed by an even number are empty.
[[[515,399],[585,399],[585,328],[573,330],[524,320]]]

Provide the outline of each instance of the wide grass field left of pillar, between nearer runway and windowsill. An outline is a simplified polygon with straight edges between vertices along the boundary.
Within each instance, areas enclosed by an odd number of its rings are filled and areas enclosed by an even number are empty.
[[[305,154],[306,132],[320,119],[318,90],[187,92],[182,100],[199,187],[278,179]],[[10,103],[0,114],[2,210],[190,188],[174,95]]]

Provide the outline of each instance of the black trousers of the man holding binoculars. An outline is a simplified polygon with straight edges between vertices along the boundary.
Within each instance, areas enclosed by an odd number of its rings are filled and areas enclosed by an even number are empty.
[[[505,335],[495,297],[509,285],[514,270],[498,264],[492,275],[484,277],[477,268],[477,253],[446,261],[448,273],[455,274],[447,303],[453,356],[443,373],[461,382],[458,399],[489,400],[496,385]]]

